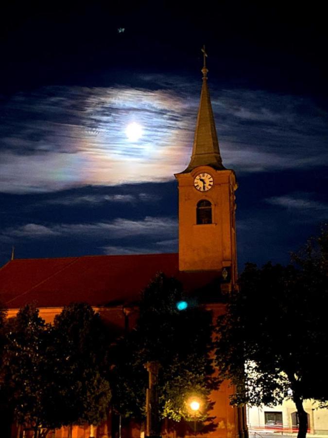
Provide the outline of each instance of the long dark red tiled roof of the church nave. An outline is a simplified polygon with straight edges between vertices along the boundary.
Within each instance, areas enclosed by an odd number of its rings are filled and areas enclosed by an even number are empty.
[[[133,302],[157,272],[178,278],[186,292],[218,275],[180,273],[178,254],[16,259],[0,269],[0,303],[17,309],[31,302],[38,307]]]

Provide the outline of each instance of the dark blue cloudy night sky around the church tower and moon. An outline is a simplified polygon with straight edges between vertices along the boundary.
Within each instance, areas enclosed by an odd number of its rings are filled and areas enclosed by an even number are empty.
[[[9,2],[7,2],[9,3]],[[252,3],[252,4],[247,4]],[[213,6],[215,4],[215,7]],[[0,16],[0,265],[177,251],[207,47],[239,269],[328,218],[327,23],[311,2],[17,2]],[[129,123],[143,129],[131,141]]]

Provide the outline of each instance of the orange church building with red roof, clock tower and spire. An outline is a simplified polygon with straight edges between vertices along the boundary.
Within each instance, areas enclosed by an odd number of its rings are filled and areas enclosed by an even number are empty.
[[[204,291],[202,303],[212,310],[214,318],[224,312],[220,297],[229,293],[237,280],[237,183],[234,171],[222,163],[207,73],[204,62],[190,163],[185,170],[175,173],[179,200],[178,254],[13,259],[0,268],[0,302],[8,309],[8,317],[33,302],[40,316],[51,322],[65,305],[76,301],[92,305],[117,327],[126,326],[129,319],[133,325],[133,309],[140,291],[157,272],[180,280],[185,293]],[[244,436],[244,411],[230,406],[232,391],[224,382],[212,393],[215,404],[210,415],[215,417],[216,429],[206,434],[207,438]],[[106,425],[96,429],[97,438],[111,436]],[[86,427],[76,426],[72,438],[89,434]],[[129,434],[126,436],[140,437],[135,429]],[[55,438],[67,436],[65,428],[55,434]]]

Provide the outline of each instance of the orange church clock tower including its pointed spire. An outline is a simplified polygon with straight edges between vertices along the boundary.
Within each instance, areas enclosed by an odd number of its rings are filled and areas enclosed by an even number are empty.
[[[235,190],[233,170],[222,164],[207,85],[204,53],[203,86],[192,155],[175,174],[179,190],[179,270],[220,271],[233,286],[237,277]]]

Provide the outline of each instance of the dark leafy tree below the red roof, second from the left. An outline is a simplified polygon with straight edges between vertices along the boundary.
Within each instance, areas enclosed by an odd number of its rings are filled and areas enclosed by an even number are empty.
[[[111,391],[107,329],[100,315],[85,303],[65,307],[52,329],[53,418],[62,424],[97,425],[106,417]]]

